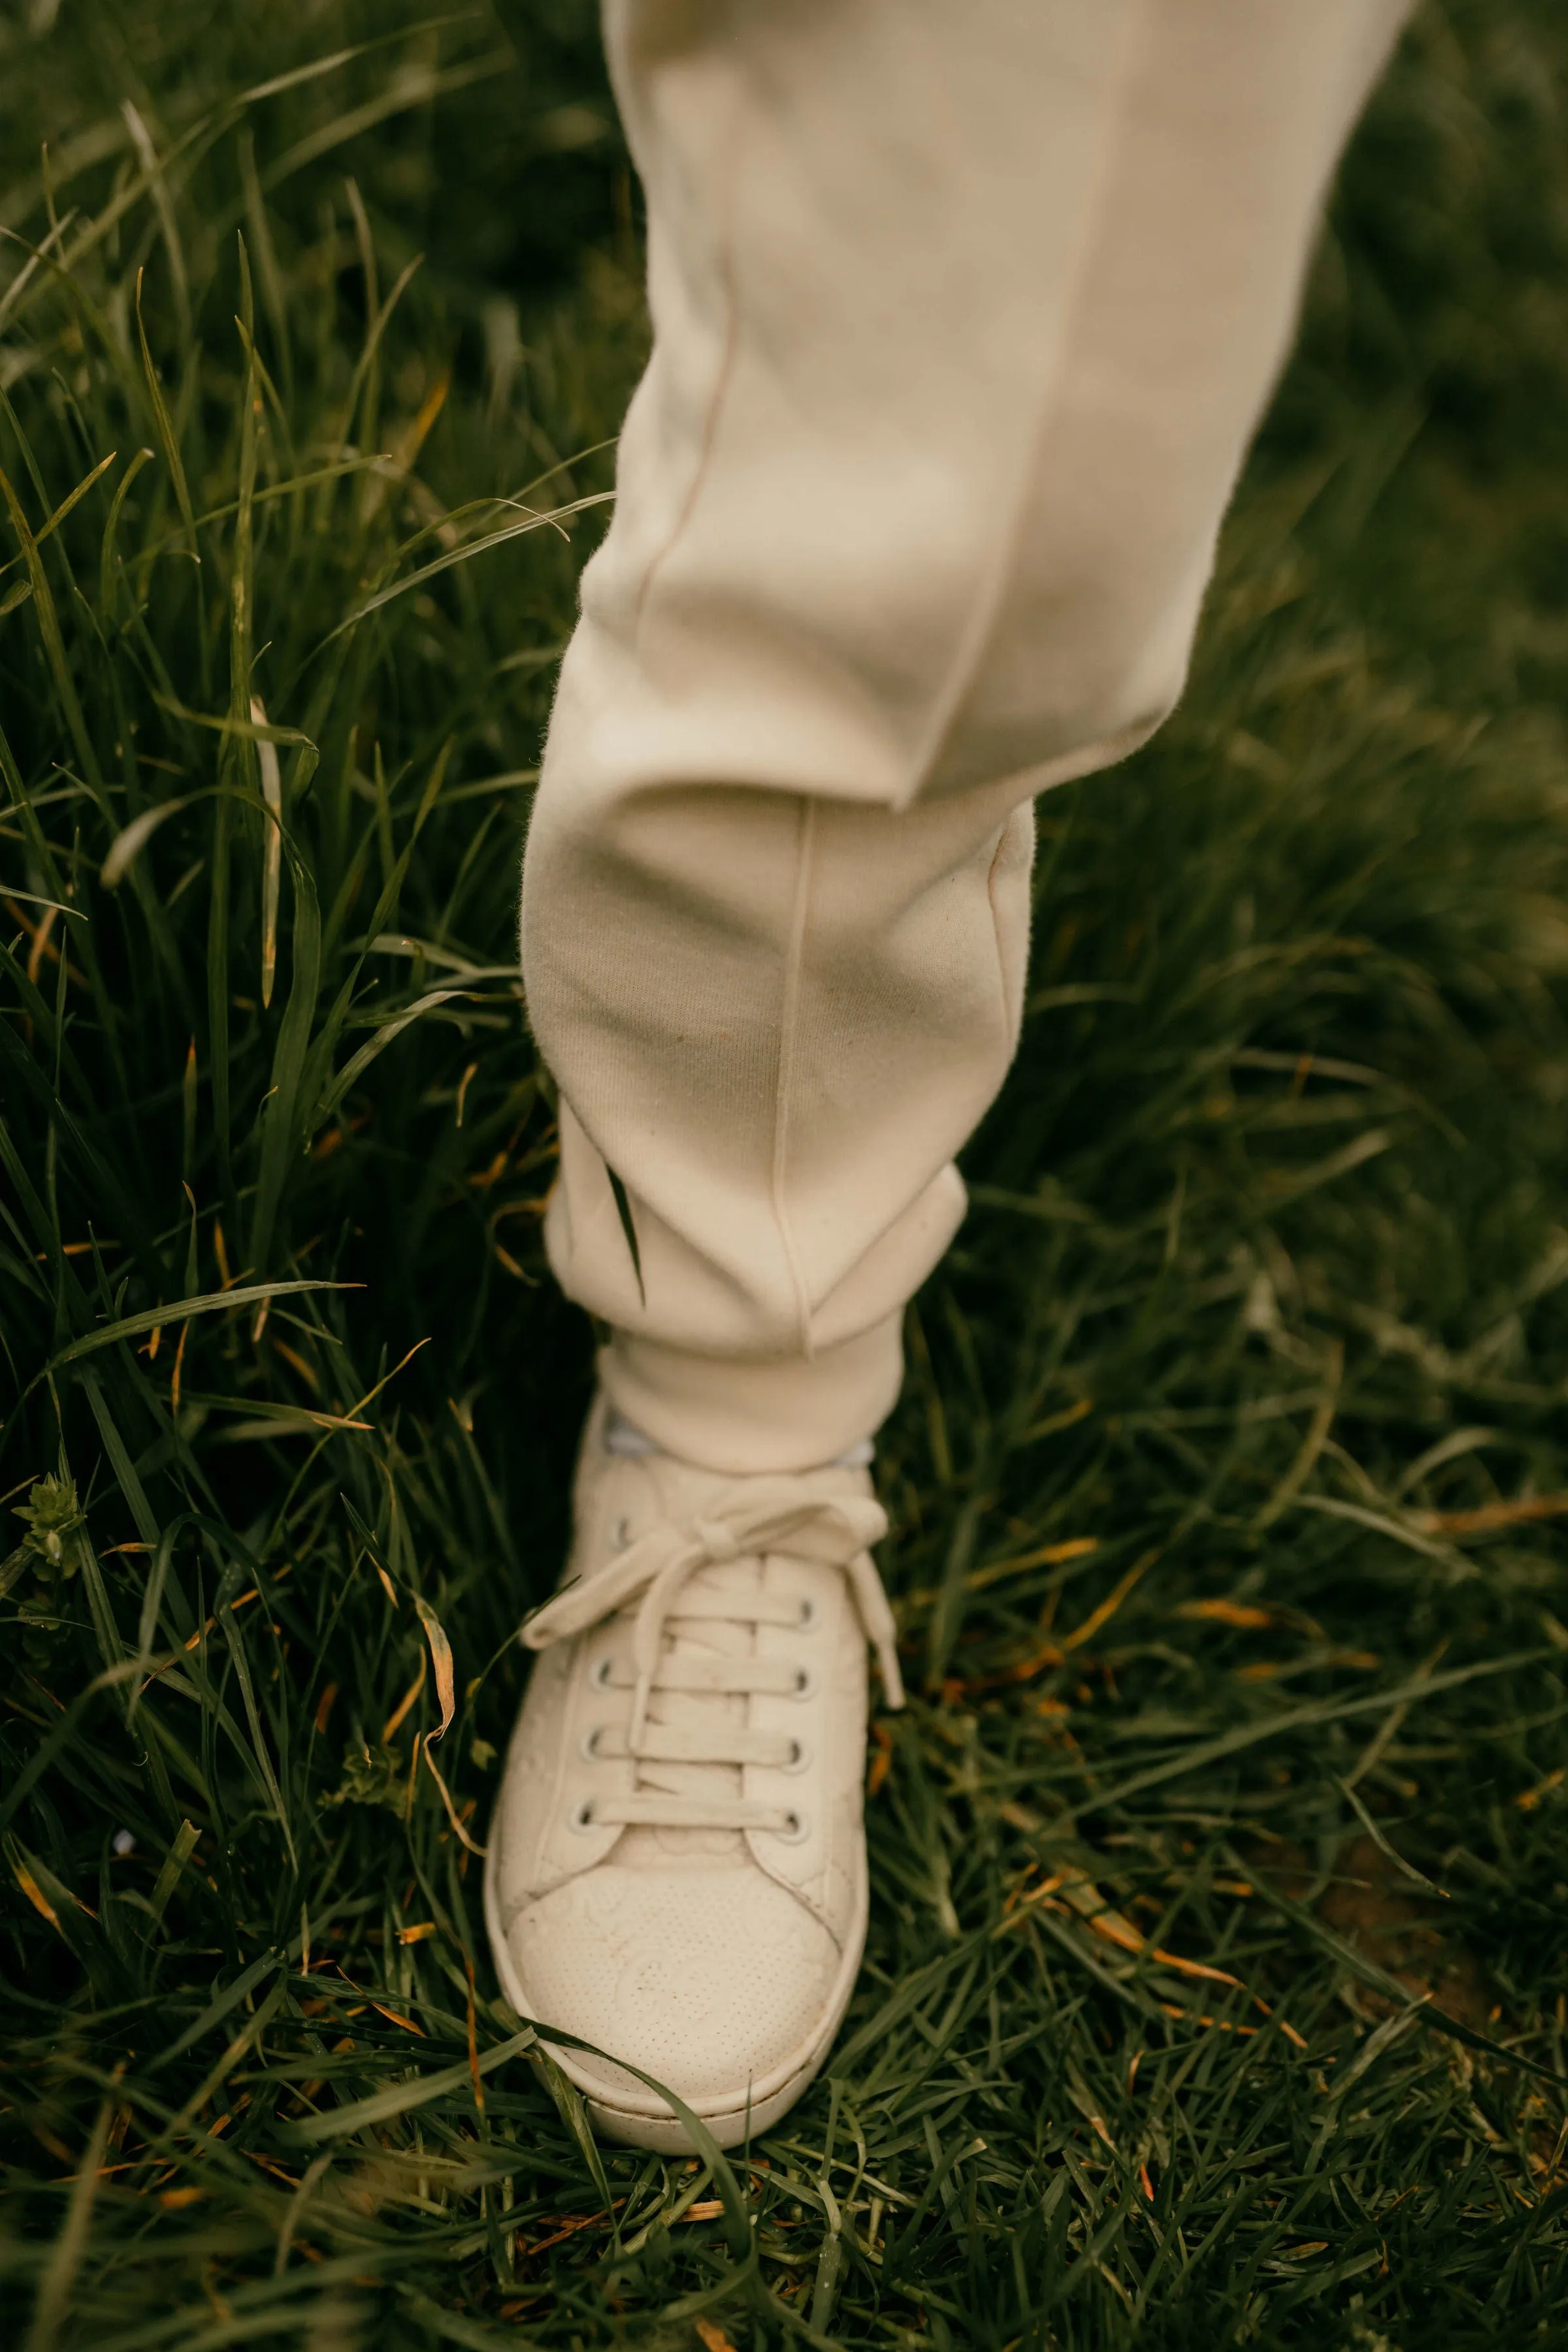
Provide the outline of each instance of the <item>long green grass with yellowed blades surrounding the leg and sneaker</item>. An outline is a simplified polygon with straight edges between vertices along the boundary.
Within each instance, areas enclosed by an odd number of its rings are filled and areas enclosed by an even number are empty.
[[[1041,807],[865,1976],[691,2169],[473,1863],[588,1385],[515,858],[644,348],[592,21],[505,14],[0,24],[7,2340],[1552,2345],[1568,28],[1418,19],[1185,708]]]

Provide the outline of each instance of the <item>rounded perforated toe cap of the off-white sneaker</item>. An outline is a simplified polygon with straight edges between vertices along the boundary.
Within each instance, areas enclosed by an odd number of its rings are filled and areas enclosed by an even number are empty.
[[[842,1964],[797,1896],[733,1867],[607,1863],[529,1903],[508,1943],[536,2018],[642,2067],[698,2112],[804,2058]],[[618,2065],[562,2056],[595,2091],[646,2098]]]

